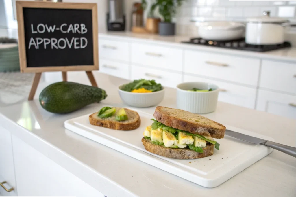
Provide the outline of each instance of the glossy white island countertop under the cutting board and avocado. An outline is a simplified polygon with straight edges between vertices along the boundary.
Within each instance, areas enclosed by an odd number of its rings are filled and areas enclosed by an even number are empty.
[[[296,195],[296,158],[276,150],[222,185],[209,189],[65,129],[65,120],[91,114],[104,105],[127,107],[117,93],[117,87],[126,80],[102,73],[96,73],[95,78],[99,87],[108,94],[99,104],[58,115],[42,109],[38,100],[19,102],[0,108],[0,124],[108,197]],[[44,85],[38,87],[35,98],[38,98]],[[175,89],[166,88],[165,99],[159,105],[176,107],[175,94]],[[155,107],[138,110],[152,114]],[[270,136],[279,143],[296,146],[296,121],[293,119],[223,102],[218,103],[214,113],[205,116],[222,124]]]

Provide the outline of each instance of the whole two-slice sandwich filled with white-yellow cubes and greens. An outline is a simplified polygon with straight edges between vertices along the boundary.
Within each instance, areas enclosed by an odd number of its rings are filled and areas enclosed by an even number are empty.
[[[157,106],[155,119],[146,127],[142,143],[145,149],[173,159],[197,159],[213,155],[224,137],[226,127],[198,114]]]

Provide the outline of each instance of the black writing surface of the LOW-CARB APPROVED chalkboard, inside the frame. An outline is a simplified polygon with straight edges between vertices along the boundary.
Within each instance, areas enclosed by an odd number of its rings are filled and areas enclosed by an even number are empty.
[[[23,8],[27,67],[93,65],[91,10]]]

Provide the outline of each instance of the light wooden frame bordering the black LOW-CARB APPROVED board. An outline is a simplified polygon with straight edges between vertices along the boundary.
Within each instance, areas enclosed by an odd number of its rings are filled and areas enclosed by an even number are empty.
[[[98,53],[98,17],[96,4],[83,3],[60,3],[60,2],[40,2],[40,1],[16,1],[17,24],[19,35],[19,54],[20,54],[20,71],[22,73],[41,73],[46,71],[71,71],[71,70],[98,70],[99,53]],[[52,9],[91,9],[92,13],[92,30],[93,30],[93,55],[94,65],[73,65],[73,66],[44,66],[44,67],[27,67],[24,15],[22,8],[52,8]]]

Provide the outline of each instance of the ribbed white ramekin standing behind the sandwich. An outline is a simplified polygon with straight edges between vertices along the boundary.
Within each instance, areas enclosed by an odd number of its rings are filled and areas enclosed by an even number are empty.
[[[192,88],[208,90],[209,92],[188,91]],[[206,114],[216,110],[219,87],[204,82],[186,82],[177,85],[177,107],[194,114]]]

